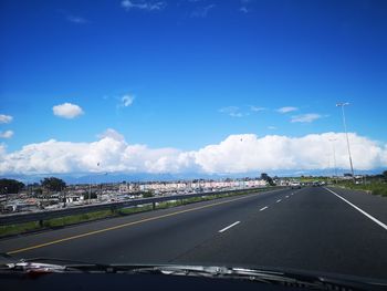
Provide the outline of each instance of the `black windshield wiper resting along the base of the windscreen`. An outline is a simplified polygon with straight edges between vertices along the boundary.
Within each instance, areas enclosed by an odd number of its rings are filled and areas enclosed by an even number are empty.
[[[46,263],[50,262],[50,263]],[[55,262],[55,263],[52,263]],[[57,264],[61,262],[61,264]],[[6,268],[4,268],[6,267]],[[101,264],[75,260],[53,258],[34,258],[8,263],[0,270],[15,270],[28,273],[125,273],[125,274],[166,274],[190,276],[218,279],[249,280],[261,283],[281,284],[286,287],[314,290],[386,290],[387,282],[315,276],[304,272],[278,271],[268,269],[247,269],[206,266],[179,264]]]

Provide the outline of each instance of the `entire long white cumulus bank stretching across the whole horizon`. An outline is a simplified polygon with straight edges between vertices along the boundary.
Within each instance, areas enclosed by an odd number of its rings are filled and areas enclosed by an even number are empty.
[[[85,172],[124,173],[249,173],[261,170],[313,170],[332,167],[332,142],[338,168],[348,168],[344,133],[311,134],[303,137],[254,134],[230,135],[219,144],[198,150],[149,148],[128,144],[108,128],[93,143],[50,139],[7,153],[0,146],[0,174],[48,174]],[[355,169],[387,167],[387,144],[349,134]],[[101,163],[98,167],[97,164]]]

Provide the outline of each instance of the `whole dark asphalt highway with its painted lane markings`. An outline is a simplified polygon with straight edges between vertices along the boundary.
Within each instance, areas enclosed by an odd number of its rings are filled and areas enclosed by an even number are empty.
[[[0,252],[100,263],[291,268],[387,279],[387,198],[305,187],[0,240]]]

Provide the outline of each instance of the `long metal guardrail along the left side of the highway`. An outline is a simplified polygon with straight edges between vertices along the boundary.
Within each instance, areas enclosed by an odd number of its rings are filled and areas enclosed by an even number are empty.
[[[1,215],[0,216],[0,225],[17,225],[23,222],[39,221],[41,225],[44,220],[49,220],[52,218],[60,218],[72,215],[82,215],[93,211],[100,210],[116,210],[119,208],[138,206],[138,205],[153,205],[153,208],[156,208],[157,202],[169,201],[169,200],[182,200],[202,196],[211,196],[211,195],[224,195],[232,194],[238,191],[257,191],[260,189],[268,188],[278,188],[278,187],[260,187],[260,188],[249,188],[249,189],[237,189],[237,190],[226,190],[226,191],[211,191],[211,193],[197,193],[197,194],[185,194],[185,195],[170,195],[170,196],[160,196],[160,197],[151,197],[151,198],[142,198],[126,201],[117,201],[117,202],[108,202],[108,204],[96,204],[96,205],[85,205],[77,206],[72,208],[63,208],[55,210],[45,210],[40,212],[27,212],[27,214],[12,214],[12,215]]]

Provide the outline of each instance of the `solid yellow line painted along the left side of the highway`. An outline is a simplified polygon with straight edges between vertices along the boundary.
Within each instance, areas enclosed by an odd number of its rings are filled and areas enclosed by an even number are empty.
[[[259,195],[259,194],[261,194],[261,193],[258,193],[257,195]],[[200,210],[200,209],[208,208],[208,207],[213,207],[213,206],[217,206],[217,205],[233,202],[233,201],[237,201],[237,200],[249,198],[252,195],[248,195],[248,196],[243,196],[243,197],[231,199],[231,200],[227,200],[227,201],[215,202],[215,204],[199,206],[199,207],[195,207],[195,208],[190,208],[190,209],[186,209],[186,210],[180,210],[180,211],[176,211],[176,212],[171,212],[171,214],[167,214],[167,215],[145,218],[145,219],[142,219],[142,220],[127,222],[127,224],[123,224],[123,225],[118,225],[118,226],[114,226],[114,227],[108,227],[108,228],[104,228],[104,229],[100,229],[100,230],[94,230],[94,231],[90,231],[90,232],[85,232],[85,233],[81,233],[81,235],[76,235],[76,236],[71,236],[71,237],[63,238],[63,239],[56,239],[56,240],[48,241],[48,242],[44,242],[44,243],[40,243],[40,245],[35,245],[35,246],[31,246],[31,247],[27,247],[27,248],[22,248],[22,249],[11,250],[11,251],[8,251],[7,253],[8,254],[14,254],[14,253],[19,253],[19,252],[23,252],[23,251],[28,251],[28,250],[39,249],[39,248],[48,247],[48,246],[51,246],[51,245],[60,243],[60,242],[63,242],[63,241],[69,241],[69,240],[73,240],[73,239],[88,237],[88,236],[106,232],[106,231],[109,231],[109,230],[115,230],[115,229],[129,227],[129,226],[143,224],[143,222],[147,222],[147,221],[151,221],[151,220],[156,220],[156,219],[161,219],[161,218],[165,218],[165,217],[170,217],[170,216],[176,216],[176,215],[180,215],[180,214],[185,214],[185,212]],[[253,196],[255,196],[255,195],[253,195]]]

